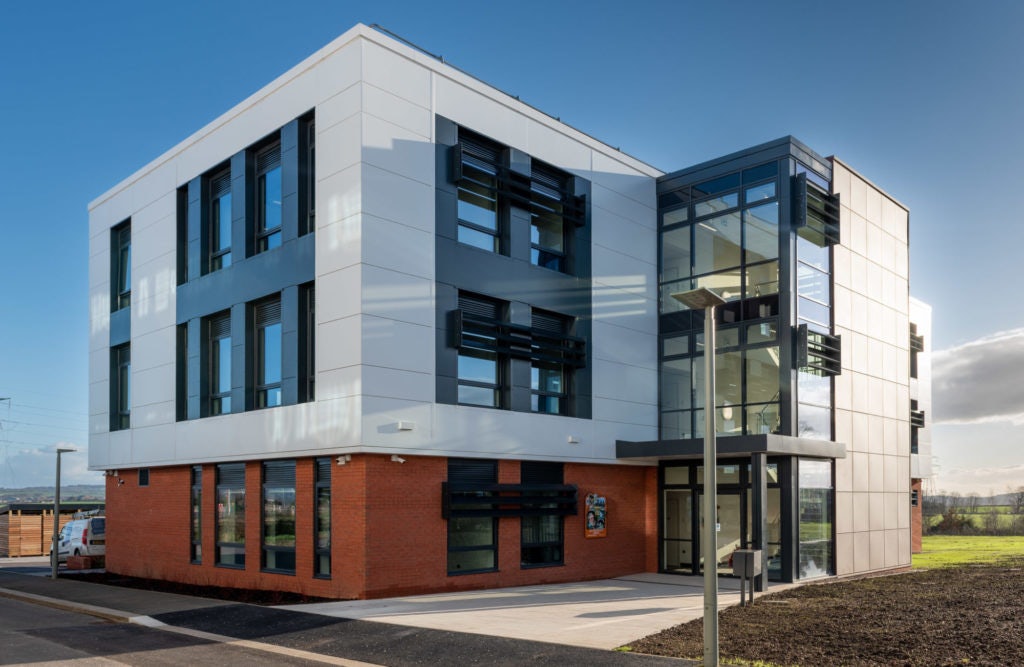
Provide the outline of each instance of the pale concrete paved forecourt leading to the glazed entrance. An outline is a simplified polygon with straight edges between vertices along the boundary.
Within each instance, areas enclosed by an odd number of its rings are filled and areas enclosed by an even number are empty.
[[[791,586],[775,584],[771,590]],[[738,603],[739,581],[720,579],[719,606]],[[290,605],[287,609],[435,630],[614,649],[702,618],[703,580],[641,573],[571,584]]]

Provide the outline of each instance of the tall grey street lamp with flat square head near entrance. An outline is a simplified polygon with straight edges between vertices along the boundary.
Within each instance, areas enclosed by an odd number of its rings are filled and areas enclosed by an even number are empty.
[[[718,502],[715,451],[715,308],[725,303],[707,287],[672,295],[691,310],[705,311],[705,512],[700,531],[705,561],[705,667],[718,667]]]

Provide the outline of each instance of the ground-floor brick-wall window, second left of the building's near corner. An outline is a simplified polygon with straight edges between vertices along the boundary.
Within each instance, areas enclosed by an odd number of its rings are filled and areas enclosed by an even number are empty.
[[[295,573],[295,461],[263,463],[263,569]]]

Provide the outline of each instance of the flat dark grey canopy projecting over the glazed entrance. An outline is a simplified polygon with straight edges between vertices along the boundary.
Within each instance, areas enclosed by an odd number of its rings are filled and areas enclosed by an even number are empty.
[[[718,456],[738,458],[752,454],[768,456],[800,456],[823,459],[846,458],[846,445],[831,441],[762,433],[757,435],[719,436]],[[703,437],[655,440],[644,442],[615,441],[615,457],[633,461],[671,461],[703,458]]]

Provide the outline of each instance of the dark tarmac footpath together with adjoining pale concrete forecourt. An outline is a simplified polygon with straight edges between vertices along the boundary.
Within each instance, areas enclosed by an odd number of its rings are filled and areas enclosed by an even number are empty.
[[[612,650],[703,614],[702,579],[676,575],[258,607],[63,576],[54,581],[45,576],[45,557],[38,560],[0,558],[0,596],[352,666],[678,666],[689,661]],[[720,579],[720,606],[738,603],[738,580]]]

